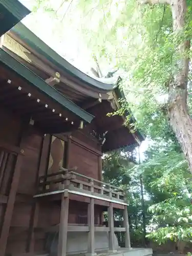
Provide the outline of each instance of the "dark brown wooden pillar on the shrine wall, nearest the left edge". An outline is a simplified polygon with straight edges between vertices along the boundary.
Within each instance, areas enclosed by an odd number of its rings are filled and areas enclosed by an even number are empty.
[[[16,190],[19,182],[19,176],[20,176],[20,169],[22,166],[22,155],[17,156],[14,174],[12,178],[11,188],[9,192],[7,207],[5,211],[5,217],[3,221],[1,236],[0,236],[0,256],[5,256],[6,246],[7,246],[7,239],[9,235],[9,228],[11,224],[11,218],[13,213],[13,207],[16,197]]]

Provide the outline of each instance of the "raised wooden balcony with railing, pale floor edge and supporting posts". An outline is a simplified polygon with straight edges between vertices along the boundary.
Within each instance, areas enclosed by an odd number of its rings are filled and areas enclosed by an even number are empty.
[[[39,177],[38,191],[34,197],[61,194],[59,225],[49,227],[49,232],[58,232],[58,255],[66,256],[67,238],[70,232],[88,232],[87,256],[95,256],[95,235],[97,232],[107,232],[109,250],[116,252],[114,232],[125,232],[125,247],[131,248],[127,202],[125,191],[119,187],[87,177],[75,172],[74,169],[61,168],[59,172]],[[70,194],[89,197],[87,219],[84,224],[72,225],[68,223]],[[95,225],[94,205],[99,200],[108,201],[108,227]],[[114,227],[115,205],[123,209],[123,227]]]

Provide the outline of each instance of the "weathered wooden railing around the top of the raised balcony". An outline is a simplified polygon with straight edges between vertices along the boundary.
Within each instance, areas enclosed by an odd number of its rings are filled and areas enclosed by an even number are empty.
[[[123,189],[108,183],[74,172],[73,169],[61,168],[59,172],[41,176],[38,194],[48,191],[69,189],[103,199],[125,202]]]

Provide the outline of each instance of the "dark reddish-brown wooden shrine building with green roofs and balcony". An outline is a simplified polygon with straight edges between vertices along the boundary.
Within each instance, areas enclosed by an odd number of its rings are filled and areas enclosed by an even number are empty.
[[[120,108],[116,84],[49,48],[20,23],[18,1],[0,12],[0,256],[115,252],[115,231],[131,248],[125,192],[102,181],[102,154],[143,140],[107,116]]]

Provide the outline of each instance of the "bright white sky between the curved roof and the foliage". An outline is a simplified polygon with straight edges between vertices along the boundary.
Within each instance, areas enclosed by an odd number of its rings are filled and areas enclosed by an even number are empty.
[[[19,1],[31,11],[35,6],[35,0]],[[25,17],[22,23],[76,68],[90,74],[90,69],[95,67],[95,62],[92,58],[92,52],[80,32],[80,14],[77,10],[75,10],[75,13],[70,12],[70,8],[73,8],[70,5],[71,1],[64,2],[62,6],[62,0],[49,0],[49,2],[51,8],[58,10],[58,17],[52,12],[40,8]],[[59,13],[59,11],[62,13]],[[109,69],[109,67],[106,69]],[[141,160],[144,159],[143,152],[150,143],[148,139],[142,142],[140,146]]]

